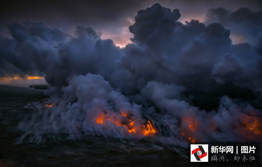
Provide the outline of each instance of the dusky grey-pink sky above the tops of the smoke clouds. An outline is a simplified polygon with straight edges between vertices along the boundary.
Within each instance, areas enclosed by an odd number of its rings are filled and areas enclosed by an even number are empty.
[[[260,0],[113,0],[113,1],[2,1],[0,2],[1,33],[8,35],[7,24],[12,22],[23,23],[32,21],[45,22],[54,28],[73,34],[76,25],[93,27],[102,32],[102,39],[112,39],[120,47],[124,47],[131,41],[133,35],[129,32],[129,25],[134,23],[137,11],[150,7],[155,3],[162,6],[178,8],[181,17],[178,21],[185,23],[191,19],[205,21],[207,11],[211,8],[223,7],[228,10],[236,10],[247,7],[252,10],[260,10]],[[233,42],[239,43],[240,37],[234,36]],[[241,41],[243,42],[243,41]]]

